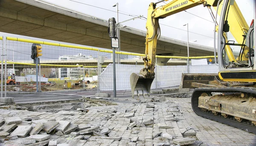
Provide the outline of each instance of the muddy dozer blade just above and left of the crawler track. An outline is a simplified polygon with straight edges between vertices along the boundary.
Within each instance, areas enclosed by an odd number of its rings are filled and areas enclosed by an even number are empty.
[[[215,78],[219,80],[218,74],[184,74],[182,73],[180,88],[195,88],[194,83],[208,84]],[[204,86],[202,86],[204,87]]]

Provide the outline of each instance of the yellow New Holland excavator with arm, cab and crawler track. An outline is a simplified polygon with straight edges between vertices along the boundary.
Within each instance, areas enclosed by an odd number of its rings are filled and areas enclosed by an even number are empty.
[[[180,11],[202,5],[207,7],[214,20],[214,54],[218,50],[218,77],[221,88],[198,88],[192,93],[192,109],[201,116],[215,120],[239,129],[256,134],[256,8],[254,0],[240,0],[241,5],[253,11],[242,14],[235,0],[172,0],[158,6],[157,4],[168,1],[161,0],[150,3],[146,23],[145,67],[140,73],[132,73],[130,76],[132,97],[137,94],[149,96],[151,83],[154,80],[154,68],[156,62],[157,40],[160,37],[159,19],[176,14]],[[216,14],[212,12],[212,7]],[[217,23],[217,15],[219,22]],[[244,17],[253,19],[250,25]],[[229,32],[233,37],[227,35]],[[217,47],[215,46],[217,40]],[[235,57],[231,48],[240,50]],[[236,82],[236,86],[226,87],[225,82]]]

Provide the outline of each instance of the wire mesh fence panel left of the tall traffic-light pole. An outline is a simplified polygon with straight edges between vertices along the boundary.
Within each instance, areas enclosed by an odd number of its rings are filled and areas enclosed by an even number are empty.
[[[88,50],[84,46],[72,45],[66,47],[57,43],[35,44],[42,47],[42,55],[38,56],[37,76],[33,43],[28,43],[33,41],[6,41],[6,74],[8,79],[12,79],[7,83],[8,92],[36,92],[36,78],[39,92],[97,89],[97,49]]]

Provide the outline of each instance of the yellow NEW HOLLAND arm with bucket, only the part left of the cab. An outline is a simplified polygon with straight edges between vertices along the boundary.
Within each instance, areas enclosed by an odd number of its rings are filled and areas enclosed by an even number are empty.
[[[145,97],[145,94],[149,96],[150,87],[154,80],[157,37],[160,37],[161,33],[158,20],[201,4],[208,8],[210,6],[216,6],[217,1],[218,0],[172,0],[170,3],[160,7],[156,7],[159,2],[150,3],[146,22],[146,56],[143,58],[145,67],[140,70],[139,74],[132,73],[130,76],[132,97],[134,97],[134,94],[137,94],[138,97],[140,94],[142,94],[143,97]]]

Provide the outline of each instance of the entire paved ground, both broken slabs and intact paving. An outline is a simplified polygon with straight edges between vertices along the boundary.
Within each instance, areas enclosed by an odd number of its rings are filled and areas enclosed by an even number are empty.
[[[57,113],[6,107],[0,146],[255,146],[254,134],[195,115],[191,98],[154,100],[104,98],[119,105]]]

